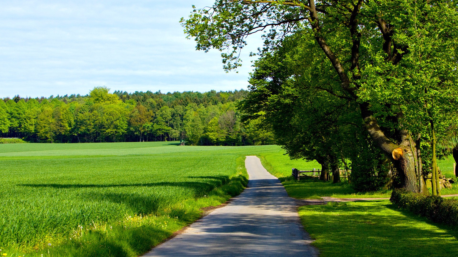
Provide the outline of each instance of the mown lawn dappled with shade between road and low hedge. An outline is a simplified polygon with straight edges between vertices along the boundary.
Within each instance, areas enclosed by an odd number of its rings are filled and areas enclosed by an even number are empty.
[[[388,201],[300,207],[322,256],[456,256],[458,231],[398,211]]]

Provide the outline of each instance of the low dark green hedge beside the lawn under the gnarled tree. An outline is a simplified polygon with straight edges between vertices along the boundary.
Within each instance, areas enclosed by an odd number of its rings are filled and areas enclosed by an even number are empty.
[[[447,225],[458,225],[458,200],[396,189],[391,194],[390,202],[400,209],[420,214],[428,220]]]

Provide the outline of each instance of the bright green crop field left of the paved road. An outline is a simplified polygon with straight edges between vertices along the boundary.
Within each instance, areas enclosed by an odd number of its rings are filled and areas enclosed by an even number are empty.
[[[196,220],[200,208],[240,193],[244,156],[265,153],[288,159],[276,145],[2,144],[0,249],[138,256]]]

